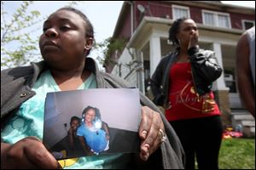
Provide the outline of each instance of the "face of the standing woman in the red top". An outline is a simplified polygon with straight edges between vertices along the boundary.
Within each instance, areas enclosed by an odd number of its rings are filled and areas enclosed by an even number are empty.
[[[177,39],[180,42],[180,46],[188,47],[190,38],[193,37],[198,40],[198,36],[199,33],[195,21],[191,19],[183,20],[177,32]]]

